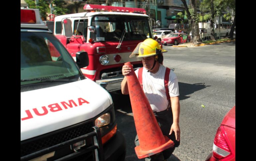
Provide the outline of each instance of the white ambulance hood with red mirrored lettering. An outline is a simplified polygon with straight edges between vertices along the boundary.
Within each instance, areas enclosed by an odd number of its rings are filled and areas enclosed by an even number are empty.
[[[21,92],[21,141],[91,119],[112,103],[90,79]]]

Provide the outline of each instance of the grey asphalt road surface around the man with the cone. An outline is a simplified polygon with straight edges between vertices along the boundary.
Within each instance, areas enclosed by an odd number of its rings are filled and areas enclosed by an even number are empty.
[[[199,47],[164,46],[164,65],[175,68],[180,91],[181,144],[168,161],[202,161],[212,150],[216,130],[235,105],[235,42]],[[126,139],[126,161],[139,160],[129,96],[111,93],[117,128]],[[205,107],[201,107],[204,105]]]

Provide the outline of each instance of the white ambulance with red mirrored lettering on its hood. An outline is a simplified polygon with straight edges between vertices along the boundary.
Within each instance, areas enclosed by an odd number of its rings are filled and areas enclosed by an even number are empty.
[[[21,9],[21,160],[124,160],[109,93],[86,78],[37,9]]]

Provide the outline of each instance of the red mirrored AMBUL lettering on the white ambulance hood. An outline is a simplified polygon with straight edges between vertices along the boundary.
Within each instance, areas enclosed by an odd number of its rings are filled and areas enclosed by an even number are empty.
[[[78,103],[79,106],[81,106],[81,105],[84,104],[84,103],[89,104],[88,101],[86,101],[86,100],[84,100],[84,99],[82,99],[82,98],[78,98],[78,99],[77,99],[77,103]],[[62,105],[62,107],[63,107],[64,109],[68,109],[68,107],[69,107],[69,108],[72,108],[72,107],[76,107],[76,106],[77,106],[77,104],[75,103],[74,100],[68,100],[68,103],[65,102],[65,101],[63,101],[63,102],[61,102],[60,104],[59,104],[59,103],[55,103],[55,104],[48,105],[48,106],[47,106],[47,107],[49,108],[48,110],[47,110],[46,106],[42,106],[43,112],[42,112],[41,109],[38,110],[37,108],[34,108],[34,109],[33,109],[33,111],[34,111],[33,114],[35,114],[35,115],[37,115],[37,116],[44,116],[44,115],[47,115],[49,111],[50,111],[50,112],[61,111],[61,110],[63,110],[63,108],[62,108],[60,105]],[[40,111],[40,112],[39,112],[39,111]],[[30,112],[30,110],[25,110],[25,113],[27,114],[27,117],[21,118],[21,121],[24,121],[24,120],[32,119],[32,118],[33,118],[33,115],[32,115],[32,113]]]

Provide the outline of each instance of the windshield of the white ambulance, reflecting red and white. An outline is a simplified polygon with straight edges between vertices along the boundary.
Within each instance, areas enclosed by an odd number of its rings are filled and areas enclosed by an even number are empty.
[[[79,74],[70,54],[52,34],[21,32],[21,85]]]

